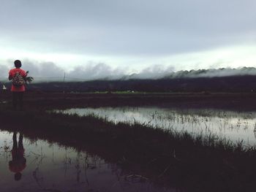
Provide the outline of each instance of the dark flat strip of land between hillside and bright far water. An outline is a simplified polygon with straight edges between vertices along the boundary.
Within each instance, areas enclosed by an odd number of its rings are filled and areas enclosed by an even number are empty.
[[[11,101],[11,93],[1,93],[0,101]],[[256,110],[255,93],[36,93],[26,92],[27,109],[69,107],[116,107],[159,105],[165,107],[209,107],[223,110]]]

